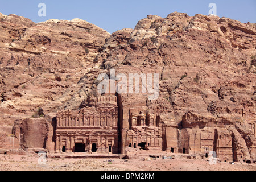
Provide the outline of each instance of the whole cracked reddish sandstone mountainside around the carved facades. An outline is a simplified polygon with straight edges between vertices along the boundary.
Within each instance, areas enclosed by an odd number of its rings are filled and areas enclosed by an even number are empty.
[[[158,73],[157,100],[118,95],[124,132],[129,111],[139,107],[160,123],[163,150],[204,154],[207,144],[200,143],[211,140],[208,147],[223,160],[256,159],[255,24],[175,12],[148,15],[134,30],[110,35],[80,19],[0,16],[1,125],[31,117],[38,107],[52,118],[59,109],[88,106],[97,76],[110,69]]]

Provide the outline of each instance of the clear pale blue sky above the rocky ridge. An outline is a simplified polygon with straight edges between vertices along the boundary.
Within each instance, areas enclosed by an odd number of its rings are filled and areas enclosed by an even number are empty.
[[[39,17],[39,3],[46,4],[46,17]],[[112,33],[122,28],[134,28],[147,15],[166,16],[174,11],[208,15],[209,3],[216,3],[217,15],[239,20],[242,23],[256,23],[256,0],[0,0],[2,14],[16,14],[43,22],[48,19],[84,19]]]

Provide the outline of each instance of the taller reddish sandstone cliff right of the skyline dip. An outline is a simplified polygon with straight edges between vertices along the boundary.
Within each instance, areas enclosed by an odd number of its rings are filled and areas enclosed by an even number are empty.
[[[184,13],[148,15],[134,30],[114,32],[94,59],[103,69],[96,75],[112,68],[116,74],[160,75],[156,101],[119,95],[123,152],[130,111],[143,107],[162,127],[163,150],[214,150],[222,160],[255,159],[255,33],[255,24]],[[79,93],[86,88],[88,96],[95,94],[94,73],[81,78]],[[77,109],[76,101],[65,105]]]

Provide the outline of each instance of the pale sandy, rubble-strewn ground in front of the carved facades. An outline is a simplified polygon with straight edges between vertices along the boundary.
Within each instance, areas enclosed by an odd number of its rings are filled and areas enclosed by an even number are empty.
[[[78,167],[73,164],[77,162],[77,159],[47,159],[46,165],[38,165],[38,156],[34,155],[0,155],[1,164],[0,169],[13,170],[13,171],[104,171],[104,168],[92,167]],[[104,159],[99,159],[102,162]],[[251,162],[253,162],[251,160]],[[113,170],[121,171],[255,171],[255,164],[246,164],[234,162],[230,163],[217,163],[216,165],[210,165],[207,160],[191,160],[186,158],[172,159],[172,160],[129,160],[124,162],[123,160],[114,160],[113,164],[106,165],[113,167]],[[110,168],[110,170],[112,170]]]

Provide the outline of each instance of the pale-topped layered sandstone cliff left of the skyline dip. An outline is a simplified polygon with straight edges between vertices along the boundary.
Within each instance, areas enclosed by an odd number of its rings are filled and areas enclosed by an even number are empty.
[[[11,14],[3,16],[0,24],[0,123],[4,125],[32,117],[46,105],[46,111],[59,107],[77,90],[84,72],[97,66],[92,62],[110,37],[80,19],[34,23]]]

